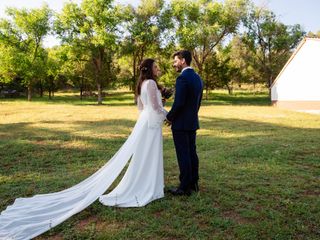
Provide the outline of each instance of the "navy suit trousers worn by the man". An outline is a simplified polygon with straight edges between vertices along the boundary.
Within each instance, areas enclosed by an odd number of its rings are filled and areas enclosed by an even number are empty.
[[[196,131],[172,130],[180,170],[180,186],[188,190],[199,180],[199,158],[196,151]]]

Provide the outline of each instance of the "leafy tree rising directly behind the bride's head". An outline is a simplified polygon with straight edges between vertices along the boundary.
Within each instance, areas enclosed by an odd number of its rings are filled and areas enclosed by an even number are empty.
[[[130,8],[131,16],[126,26],[128,36],[122,41],[121,54],[132,61],[129,83],[132,90],[138,78],[139,65],[146,54],[159,56],[161,51],[162,34],[170,25],[170,15],[164,6],[164,0],[142,0],[137,9]]]

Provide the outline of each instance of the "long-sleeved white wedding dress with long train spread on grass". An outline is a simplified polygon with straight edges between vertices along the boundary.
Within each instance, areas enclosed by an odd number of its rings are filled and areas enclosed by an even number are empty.
[[[155,81],[146,80],[138,97],[140,115],[118,152],[97,172],[66,190],[17,198],[0,215],[0,239],[31,239],[95,200],[107,206],[142,207],[164,196],[162,123],[167,114]],[[120,183],[104,192],[131,159]]]

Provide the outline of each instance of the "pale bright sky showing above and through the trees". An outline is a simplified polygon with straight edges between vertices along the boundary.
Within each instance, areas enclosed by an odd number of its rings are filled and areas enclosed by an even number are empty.
[[[0,0],[0,18],[5,17],[6,7],[40,7],[44,2],[55,11],[60,11],[67,0]],[[82,0],[69,0],[80,3]],[[169,0],[167,0],[169,1]],[[140,0],[116,0],[123,4],[139,5]],[[272,10],[278,19],[287,25],[300,24],[306,32],[320,31],[320,0],[253,0],[258,6],[264,6]],[[53,37],[45,40],[46,46],[52,46],[59,42]]]

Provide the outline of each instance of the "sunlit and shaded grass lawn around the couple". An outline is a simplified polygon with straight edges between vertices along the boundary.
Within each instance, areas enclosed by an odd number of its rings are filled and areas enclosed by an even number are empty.
[[[38,239],[320,239],[320,116],[270,107],[265,93],[210,99],[200,110],[199,194],[133,209],[95,202]],[[0,114],[2,211],[90,176],[126,140],[138,111],[130,93],[115,92],[102,106],[72,94],[0,99]],[[163,133],[165,185],[175,186],[170,129]]]

